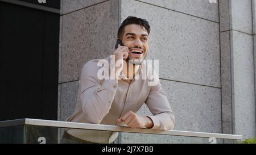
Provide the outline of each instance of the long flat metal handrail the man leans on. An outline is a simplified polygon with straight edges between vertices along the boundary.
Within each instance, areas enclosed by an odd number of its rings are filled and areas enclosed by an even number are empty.
[[[59,127],[59,128],[75,128],[75,129],[90,129],[99,131],[114,131],[114,132],[131,132],[131,133],[147,133],[156,135],[171,135],[171,136],[189,136],[189,137],[214,137],[217,139],[233,139],[242,140],[242,135],[229,135],[222,133],[208,133],[208,132],[193,132],[193,131],[177,131],[177,130],[158,130],[146,128],[129,128],[116,125],[103,125],[103,124],[90,124],[90,123],[76,123],[76,122],[63,122],[56,120],[42,120],[42,119],[16,119],[6,120],[0,122],[0,127],[10,127],[15,125],[39,125],[46,127]]]

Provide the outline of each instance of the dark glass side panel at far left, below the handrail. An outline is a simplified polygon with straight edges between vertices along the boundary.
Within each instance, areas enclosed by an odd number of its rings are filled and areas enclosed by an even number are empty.
[[[11,127],[0,128],[0,144],[12,143],[22,144],[24,143],[24,125],[17,125]]]

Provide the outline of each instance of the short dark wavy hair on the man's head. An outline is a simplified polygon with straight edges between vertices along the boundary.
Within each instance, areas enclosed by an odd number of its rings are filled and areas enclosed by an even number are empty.
[[[118,29],[117,37],[119,39],[122,39],[125,27],[129,24],[137,24],[137,25],[141,26],[142,28],[144,27],[145,30],[147,31],[148,35],[150,33],[150,25],[148,24],[146,19],[137,18],[136,16],[128,16],[125,20],[123,20],[121,26]]]

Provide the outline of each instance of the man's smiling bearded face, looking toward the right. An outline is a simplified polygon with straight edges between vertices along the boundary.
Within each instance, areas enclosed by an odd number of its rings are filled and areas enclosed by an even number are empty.
[[[148,50],[148,33],[137,24],[129,24],[123,32],[122,43],[129,48],[131,60],[144,59]]]

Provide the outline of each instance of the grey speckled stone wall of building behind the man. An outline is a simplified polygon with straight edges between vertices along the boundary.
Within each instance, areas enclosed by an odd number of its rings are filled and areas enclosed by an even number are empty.
[[[150,23],[147,59],[159,60],[174,129],[254,137],[255,10],[255,0],[61,0],[56,119],[75,109],[82,66],[114,52],[118,27],[132,15]],[[138,113],[151,115],[145,105]]]

